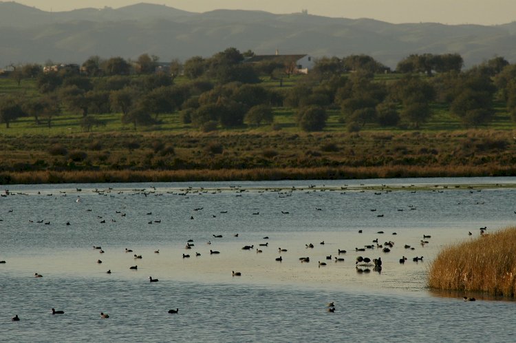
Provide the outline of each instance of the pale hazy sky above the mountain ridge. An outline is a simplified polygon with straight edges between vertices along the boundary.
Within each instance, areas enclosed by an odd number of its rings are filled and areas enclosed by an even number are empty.
[[[516,0],[17,0],[54,12],[74,8],[119,8],[133,3],[158,3],[180,10],[206,12],[219,8],[292,13],[308,10],[325,17],[372,18],[390,23],[431,21],[493,25],[516,20]]]

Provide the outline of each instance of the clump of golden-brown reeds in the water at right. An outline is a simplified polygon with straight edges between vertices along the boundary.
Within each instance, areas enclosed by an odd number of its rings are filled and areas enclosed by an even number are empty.
[[[442,249],[429,269],[429,287],[515,296],[516,227]]]

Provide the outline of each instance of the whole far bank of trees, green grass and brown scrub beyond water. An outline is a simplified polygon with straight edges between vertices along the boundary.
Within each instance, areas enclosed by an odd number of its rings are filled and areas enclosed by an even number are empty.
[[[252,55],[17,66],[0,77],[0,183],[516,175],[502,57],[323,57],[301,75]]]

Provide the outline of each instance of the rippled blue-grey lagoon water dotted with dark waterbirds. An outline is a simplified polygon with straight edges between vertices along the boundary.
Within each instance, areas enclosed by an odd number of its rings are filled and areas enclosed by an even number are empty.
[[[516,178],[424,178],[6,186],[0,342],[515,342],[515,302],[426,287],[440,247],[475,239],[480,227],[515,224],[515,185]],[[423,234],[431,236],[424,246]],[[376,238],[393,241],[391,252],[355,251]],[[301,263],[305,256],[310,262]],[[357,256],[382,258],[381,273],[358,273]],[[21,320],[11,322],[16,314]]]

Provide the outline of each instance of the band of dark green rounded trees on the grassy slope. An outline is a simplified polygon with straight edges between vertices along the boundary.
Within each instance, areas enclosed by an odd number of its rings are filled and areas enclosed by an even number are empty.
[[[396,70],[367,55],[322,57],[293,87],[280,87],[295,66],[281,59],[246,63],[253,55],[228,48],[209,58],[174,60],[166,68],[149,54],[136,61],[92,56],[80,69],[63,65],[48,72],[41,65],[21,65],[11,77],[20,87],[25,79],[35,80],[38,94],[1,96],[0,122],[9,127],[32,116],[37,125],[50,127],[55,116],[68,111],[89,131],[104,124],[96,114],[119,112],[123,123],[136,128],[179,112],[183,123],[207,132],[270,125],[275,108],[289,107],[305,131],[322,130],[334,111],[352,132],[370,123],[418,128],[431,117],[431,104],[440,103],[465,127],[477,127],[493,118],[494,101],[504,102],[516,120],[516,65],[503,57],[468,70],[459,54],[412,54]],[[378,77],[391,73],[396,77]],[[178,82],[178,76],[186,81]],[[264,87],[263,79],[278,86]]]

